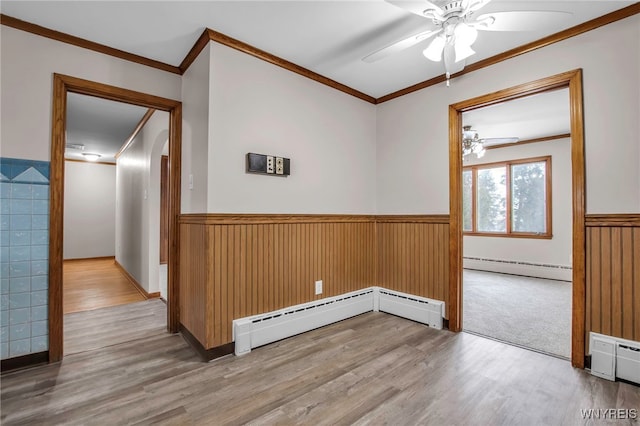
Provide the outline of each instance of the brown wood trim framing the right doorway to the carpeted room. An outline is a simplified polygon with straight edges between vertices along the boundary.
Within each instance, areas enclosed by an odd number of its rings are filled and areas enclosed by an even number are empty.
[[[569,88],[573,206],[573,307],[571,363],[584,368],[585,355],[585,159],[582,70],[521,84],[449,106],[449,325],[462,328],[462,113],[527,95]]]

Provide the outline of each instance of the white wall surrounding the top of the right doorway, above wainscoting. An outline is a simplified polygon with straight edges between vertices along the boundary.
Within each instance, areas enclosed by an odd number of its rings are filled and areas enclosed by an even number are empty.
[[[378,106],[379,214],[449,212],[448,106],[583,69],[587,213],[640,211],[640,15]]]

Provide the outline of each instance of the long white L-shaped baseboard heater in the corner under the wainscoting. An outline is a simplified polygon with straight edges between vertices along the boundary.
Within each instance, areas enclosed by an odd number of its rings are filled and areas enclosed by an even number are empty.
[[[442,329],[444,302],[369,287],[233,321],[235,354],[371,311],[387,312]]]

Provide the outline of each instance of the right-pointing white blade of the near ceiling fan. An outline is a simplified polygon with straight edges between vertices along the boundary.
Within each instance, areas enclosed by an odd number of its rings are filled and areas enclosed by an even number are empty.
[[[555,26],[569,19],[572,13],[545,10],[514,10],[509,12],[485,13],[478,16],[475,22],[469,25],[483,31],[533,31],[538,29],[540,23],[545,26]],[[493,23],[491,18],[494,19]],[[484,25],[484,23],[488,25]],[[474,25],[474,23],[478,25]]]

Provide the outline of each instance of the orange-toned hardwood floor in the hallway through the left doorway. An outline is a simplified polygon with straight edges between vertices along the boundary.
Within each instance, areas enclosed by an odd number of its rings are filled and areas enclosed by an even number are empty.
[[[67,260],[63,274],[65,314],[146,300],[113,258]]]

